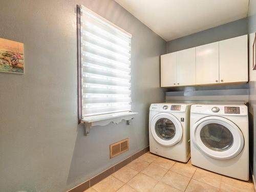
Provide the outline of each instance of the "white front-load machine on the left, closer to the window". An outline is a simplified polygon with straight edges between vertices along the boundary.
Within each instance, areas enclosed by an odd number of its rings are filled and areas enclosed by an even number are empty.
[[[190,158],[189,103],[155,103],[150,106],[150,152],[187,162]]]

